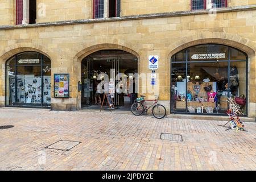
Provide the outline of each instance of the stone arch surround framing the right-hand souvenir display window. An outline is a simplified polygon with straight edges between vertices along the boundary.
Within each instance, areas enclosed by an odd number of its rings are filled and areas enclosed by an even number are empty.
[[[215,34],[214,34],[215,35]],[[210,37],[210,38],[209,38]],[[216,34],[215,36],[209,36],[204,34],[200,34],[199,36],[195,36],[194,38],[188,37],[185,39],[179,40],[176,42],[175,47],[171,45],[169,50],[171,51],[168,53],[168,61],[171,61],[171,57],[175,55],[175,53],[182,51],[185,48],[196,46],[199,44],[222,44],[225,46],[230,46],[237,48],[246,53],[248,57],[248,116],[251,118],[256,117],[256,93],[253,92],[255,89],[255,81],[256,81],[256,73],[255,73],[255,63],[256,63],[256,44],[251,42],[249,39],[241,38],[238,35],[228,35],[228,34]],[[251,91],[250,91],[251,90]]]

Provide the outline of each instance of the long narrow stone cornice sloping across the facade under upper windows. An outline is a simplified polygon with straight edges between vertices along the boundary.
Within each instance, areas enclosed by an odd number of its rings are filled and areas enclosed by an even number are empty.
[[[228,12],[234,12],[234,11],[249,11],[249,10],[256,10],[256,5],[226,7],[226,8],[217,9],[216,13],[228,13]],[[36,23],[36,24],[20,24],[15,26],[0,26],[0,30],[11,30],[16,28],[63,26],[63,25],[70,25],[70,24],[117,22],[117,21],[125,21],[125,20],[150,19],[150,18],[166,18],[166,17],[174,17],[174,16],[201,15],[201,14],[208,14],[208,13],[209,13],[209,10],[175,11],[175,12],[168,12],[168,13],[122,16],[118,18],[67,20],[67,21]]]

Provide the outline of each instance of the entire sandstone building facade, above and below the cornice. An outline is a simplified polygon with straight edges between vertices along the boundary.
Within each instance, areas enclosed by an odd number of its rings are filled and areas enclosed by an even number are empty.
[[[159,100],[171,113],[171,57],[192,46],[220,44],[247,56],[247,116],[255,118],[256,1],[227,0],[226,7],[214,10],[212,6],[191,10],[191,2],[121,0],[120,16],[108,18],[109,2],[104,1],[104,17],[94,18],[91,0],[39,0],[36,23],[16,24],[16,1],[0,1],[0,106],[6,105],[9,92],[7,60],[18,53],[34,51],[51,60],[52,109],[79,110],[82,96],[77,83],[82,80],[82,60],[97,51],[118,49],[137,57],[138,73],[151,73],[148,56],[159,56],[159,68],[155,71],[159,74]],[[26,7],[23,12],[26,13]],[[56,73],[69,73],[69,98],[54,97]],[[150,82],[147,80],[147,85]],[[140,84],[141,90],[142,87]]]

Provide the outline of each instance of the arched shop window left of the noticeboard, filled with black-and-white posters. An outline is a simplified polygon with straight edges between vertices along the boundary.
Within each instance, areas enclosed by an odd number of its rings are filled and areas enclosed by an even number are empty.
[[[6,106],[48,107],[51,104],[51,60],[22,52],[6,62]]]

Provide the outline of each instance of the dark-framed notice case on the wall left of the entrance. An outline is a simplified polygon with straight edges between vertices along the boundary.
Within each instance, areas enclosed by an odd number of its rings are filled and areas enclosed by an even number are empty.
[[[54,97],[69,98],[69,74],[54,74]]]

